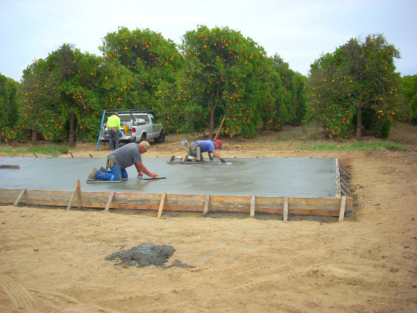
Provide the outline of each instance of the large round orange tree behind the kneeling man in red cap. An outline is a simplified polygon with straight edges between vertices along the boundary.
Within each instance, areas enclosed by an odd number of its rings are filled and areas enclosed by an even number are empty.
[[[263,48],[228,27],[198,26],[183,36],[180,49],[183,70],[158,90],[158,111],[168,127],[213,134],[225,118],[225,134],[256,136],[261,106],[273,101]]]

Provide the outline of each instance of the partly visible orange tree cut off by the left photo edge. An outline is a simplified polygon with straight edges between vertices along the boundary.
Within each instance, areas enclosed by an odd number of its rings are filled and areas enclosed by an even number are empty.
[[[18,118],[17,86],[14,79],[0,74],[0,141],[15,138]]]

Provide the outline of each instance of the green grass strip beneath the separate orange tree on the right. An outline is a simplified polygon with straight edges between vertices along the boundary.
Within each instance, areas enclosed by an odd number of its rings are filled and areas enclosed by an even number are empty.
[[[361,141],[351,144],[336,144],[336,143],[317,143],[301,145],[300,150],[325,150],[325,151],[346,151],[346,150],[378,150],[379,148],[390,150],[405,150],[405,148],[398,143],[390,143],[388,141],[375,141],[372,143],[363,143]]]

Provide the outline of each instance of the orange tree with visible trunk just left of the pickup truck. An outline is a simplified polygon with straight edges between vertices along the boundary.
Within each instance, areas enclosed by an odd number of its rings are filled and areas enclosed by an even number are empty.
[[[101,63],[101,57],[63,45],[29,65],[19,88],[21,134],[31,131],[33,143],[38,132],[48,141],[67,138],[70,145],[75,134],[93,140],[104,105]]]

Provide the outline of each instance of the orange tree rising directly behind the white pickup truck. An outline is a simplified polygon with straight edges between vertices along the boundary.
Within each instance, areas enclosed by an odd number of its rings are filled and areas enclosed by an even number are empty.
[[[129,109],[153,109],[159,83],[172,83],[175,72],[182,65],[182,56],[174,42],[149,29],[129,31],[120,27],[117,32],[108,33],[99,48],[104,54],[104,64],[116,70],[110,71],[113,80],[123,81],[122,88],[117,91],[125,92],[124,96],[129,97]],[[116,79],[116,74],[120,79]],[[116,81],[107,81],[106,90],[108,86],[115,86]],[[115,103],[115,99],[112,100],[111,107]]]

